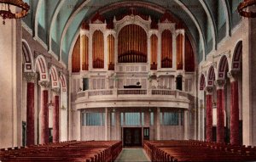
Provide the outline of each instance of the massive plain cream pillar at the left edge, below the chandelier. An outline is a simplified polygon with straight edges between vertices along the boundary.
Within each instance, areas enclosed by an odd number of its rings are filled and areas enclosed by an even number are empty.
[[[15,8],[11,8],[15,9]],[[20,20],[0,25],[0,148],[21,145],[22,47]]]

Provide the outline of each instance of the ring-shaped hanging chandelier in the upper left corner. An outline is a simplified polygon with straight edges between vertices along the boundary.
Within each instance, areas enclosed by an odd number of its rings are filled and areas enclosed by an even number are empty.
[[[22,0],[0,0],[0,16],[3,25],[6,19],[20,19],[28,14],[29,5]]]

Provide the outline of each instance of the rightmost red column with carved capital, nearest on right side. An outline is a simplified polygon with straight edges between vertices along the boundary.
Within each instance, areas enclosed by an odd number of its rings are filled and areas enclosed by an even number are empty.
[[[238,81],[234,77],[234,71],[228,73],[230,77],[230,143],[239,145],[239,98]]]

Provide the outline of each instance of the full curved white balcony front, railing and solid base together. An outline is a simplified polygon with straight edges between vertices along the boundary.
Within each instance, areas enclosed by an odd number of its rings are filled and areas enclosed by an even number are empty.
[[[160,107],[189,109],[189,94],[170,89],[100,89],[78,92],[76,109]]]

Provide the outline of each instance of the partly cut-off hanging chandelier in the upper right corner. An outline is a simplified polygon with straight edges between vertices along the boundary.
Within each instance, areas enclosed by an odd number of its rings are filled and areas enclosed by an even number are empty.
[[[247,18],[255,18],[256,17],[256,12],[247,12],[246,8],[249,6],[253,6],[256,4],[256,0],[244,0],[242,3],[240,3],[237,7],[238,13]]]

